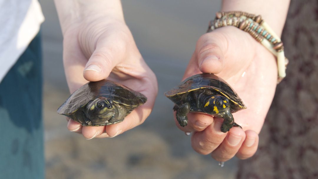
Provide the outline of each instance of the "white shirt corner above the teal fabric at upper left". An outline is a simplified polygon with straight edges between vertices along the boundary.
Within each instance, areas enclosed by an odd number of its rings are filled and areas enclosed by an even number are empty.
[[[38,0],[0,0],[0,82],[38,34],[43,21]]]

